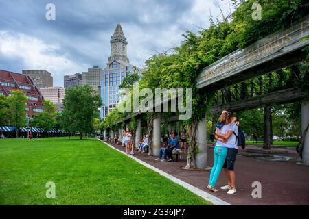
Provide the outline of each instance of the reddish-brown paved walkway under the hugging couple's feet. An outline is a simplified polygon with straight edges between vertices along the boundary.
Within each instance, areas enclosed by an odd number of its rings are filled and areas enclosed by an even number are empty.
[[[115,144],[113,146],[125,151],[122,146]],[[257,146],[254,148],[256,149]],[[212,194],[232,205],[309,205],[309,166],[295,163],[295,158],[297,158],[295,149],[288,149],[288,152],[282,156],[291,157],[292,160],[277,162],[268,159],[271,158],[268,157],[269,155],[260,157],[260,154],[240,150],[236,161],[238,192],[229,195],[226,194],[226,191],[219,190],[218,193]],[[212,149],[207,149],[207,155],[207,166],[211,166],[213,162]],[[280,155],[276,153],[276,156]],[[161,163],[155,162],[156,157],[150,157],[147,153],[135,152],[134,156],[201,190],[205,190],[205,185],[209,180],[209,170],[183,170],[181,167],[185,166],[185,159],[179,162]],[[255,181],[262,183],[262,198],[251,196],[252,183]],[[225,185],[225,183],[225,175],[221,172],[217,187]]]

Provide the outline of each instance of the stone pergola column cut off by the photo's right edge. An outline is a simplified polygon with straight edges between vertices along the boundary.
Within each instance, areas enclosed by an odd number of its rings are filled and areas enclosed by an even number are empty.
[[[304,99],[301,102],[301,134],[307,129],[309,123],[309,99]],[[304,136],[303,146],[303,164],[309,164],[309,130]]]

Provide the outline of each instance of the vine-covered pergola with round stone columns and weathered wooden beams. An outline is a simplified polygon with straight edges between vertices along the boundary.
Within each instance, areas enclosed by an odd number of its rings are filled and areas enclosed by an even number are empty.
[[[304,60],[306,53],[302,51],[309,44],[309,16],[301,19],[297,23],[293,23],[290,28],[277,31],[275,34],[266,36],[251,44],[245,49],[234,51],[233,53],[223,57],[221,60],[214,62],[204,68],[197,79],[197,87],[201,92],[210,92],[218,90],[218,88],[226,88],[233,84],[253,79],[260,75],[271,73],[275,70],[292,66]],[[206,100],[205,100],[206,101]],[[290,88],[279,90],[277,92],[264,94],[262,96],[244,99],[225,105],[214,105],[211,108],[212,113],[218,113],[223,108],[231,108],[232,110],[253,109],[264,105],[272,105],[275,103],[288,103],[293,101],[301,101],[301,129],[302,133],[306,130],[309,123],[309,98],[302,90]],[[161,103],[162,104],[162,103]],[[153,108],[155,108],[154,106]],[[142,112],[135,113],[137,118],[137,130],[135,134],[135,142],[139,142],[141,138],[141,115]],[[128,116],[119,123],[125,122],[126,126],[130,122],[131,117]],[[168,121],[178,121],[178,116],[170,118]],[[160,116],[153,120],[153,152],[159,155],[161,146],[161,121]],[[196,131],[196,139],[198,143],[198,155],[196,156],[196,165],[198,168],[205,168],[207,164],[207,137],[206,123],[207,118],[201,120]],[[113,131],[112,131],[113,136]],[[119,137],[122,136],[122,130],[119,129]],[[309,164],[309,133],[305,134],[303,163]]]

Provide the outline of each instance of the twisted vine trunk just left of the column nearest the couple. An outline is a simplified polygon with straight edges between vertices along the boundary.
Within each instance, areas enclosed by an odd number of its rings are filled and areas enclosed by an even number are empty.
[[[185,166],[186,170],[196,168],[196,129],[198,125],[198,120],[192,120],[192,123],[189,125],[189,148],[187,151],[187,165]]]

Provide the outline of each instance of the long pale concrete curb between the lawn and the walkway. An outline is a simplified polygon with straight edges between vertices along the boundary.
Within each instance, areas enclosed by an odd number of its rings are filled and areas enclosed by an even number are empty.
[[[98,139],[99,140],[99,139]],[[111,149],[114,149],[115,151],[118,151],[128,157],[130,157],[131,159],[134,159],[136,162],[138,162],[139,164],[142,164],[144,166],[146,166],[147,168],[150,168],[151,170],[154,170],[155,172],[158,172],[160,175],[162,175],[163,177],[166,177],[170,180],[172,180],[174,183],[177,183],[178,185],[181,185],[183,188],[186,188],[187,190],[190,190],[191,192],[193,192],[194,194],[200,196],[201,198],[205,199],[206,201],[210,201],[211,203],[214,203],[214,205],[231,205],[231,203],[227,203],[226,201],[223,201],[220,198],[217,198],[216,196],[213,196],[199,188],[194,187],[193,185],[190,185],[189,183],[186,183],[185,181],[182,181],[181,179],[178,179],[176,177],[173,177],[172,175],[169,175],[168,173],[159,170],[158,168],[155,168],[154,166],[151,166],[150,164],[141,161],[140,159],[138,159],[137,157],[133,157],[131,155],[127,155],[126,153],[124,153],[124,151],[121,151],[119,149],[116,149],[114,146],[112,146],[111,144],[108,144],[102,140],[99,140],[100,142],[103,142],[104,144],[108,145]]]

